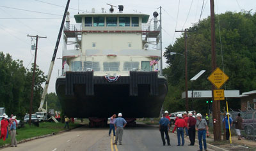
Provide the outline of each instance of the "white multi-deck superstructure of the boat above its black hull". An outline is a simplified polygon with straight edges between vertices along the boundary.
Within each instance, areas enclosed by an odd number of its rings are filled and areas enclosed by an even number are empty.
[[[94,10],[95,11],[95,10]],[[129,71],[155,71],[159,60],[159,30],[143,13],[81,13],[79,25],[64,29],[63,75],[66,71],[92,71],[94,76],[129,76]]]

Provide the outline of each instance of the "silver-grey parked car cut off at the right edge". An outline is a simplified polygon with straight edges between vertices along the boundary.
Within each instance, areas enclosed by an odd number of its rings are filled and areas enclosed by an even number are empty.
[[[246,111],[246,113],[243,116],[242,128],[248,135],[256,134],[256,111]]]

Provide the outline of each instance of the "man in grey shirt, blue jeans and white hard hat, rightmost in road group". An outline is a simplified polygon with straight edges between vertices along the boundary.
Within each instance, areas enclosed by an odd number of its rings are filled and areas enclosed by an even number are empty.
[[[207,126],[207,122],[205,119],[202,119],[202,115],[200,113],[196,114],[196,131],[198,131],[198,141],[199,141],[199,148],[200,150],[198,151],[202,151],[203,150],[203,146],[202,146],[202,138],[204,141],[204,150],[207,151],[207,146],[206,146],[206,137],[205,137],[205,133],[209,133],[208,131],[208,126]]]

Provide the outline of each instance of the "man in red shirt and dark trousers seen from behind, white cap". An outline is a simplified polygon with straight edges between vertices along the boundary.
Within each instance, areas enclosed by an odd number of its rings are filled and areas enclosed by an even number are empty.
[[[177,117],[179,117],[178,120],[175,122],[175,127],[177,127],[177,138],[178,138],[178,145],[180,146],[180,136],[182,139],[182,146],[184,146],[185,140],[184,140],[184,127],[187,127],[187,124],[184,119],[182,119],[182,114],[178,114]]]

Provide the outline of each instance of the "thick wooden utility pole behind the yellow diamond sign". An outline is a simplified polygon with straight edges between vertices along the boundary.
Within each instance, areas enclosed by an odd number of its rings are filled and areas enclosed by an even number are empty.
[[[211,4],[211,55],[212,55],[212,72],[216,69],[216,53],[215,53],[215,23],[214,23],[214,0],[210,0]],[[212,117],[214,141],[221,141],[221,119],[220,119],[220,101],[214,100],[214,90],[216,87],[212,84]]]

